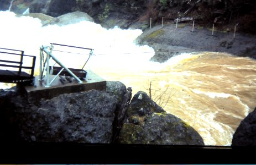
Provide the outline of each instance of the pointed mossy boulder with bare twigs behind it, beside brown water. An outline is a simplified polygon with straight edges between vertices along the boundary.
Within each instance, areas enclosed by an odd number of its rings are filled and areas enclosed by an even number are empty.
[[[119,134],[121,144],[204,145],[190,125],[168,114],[142,91],[134,95]]]

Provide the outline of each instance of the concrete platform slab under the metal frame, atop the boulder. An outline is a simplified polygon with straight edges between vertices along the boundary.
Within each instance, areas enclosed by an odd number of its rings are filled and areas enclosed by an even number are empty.
[[[53,80],[54,76],[50,75],[50,81]],[[82,81],[83,83],[78,83],[74,79],[71,83],[69,81],[62,83],[58,77],[50,87],[45,87],[46,79],[44,78],[44,81],[39,81],[39,76],[36,76],[34,86],[24,86],[24,89],[28,98],[36,101],[40,101],[41,98],[50,99],[60,94],[71,94],[92,89],[106,90],[106,80],[90,70],[87,72],[85,80]]]

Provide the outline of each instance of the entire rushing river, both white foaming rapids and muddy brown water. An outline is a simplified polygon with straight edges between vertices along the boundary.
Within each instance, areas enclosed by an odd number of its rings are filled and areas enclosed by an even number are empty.
[[[139,90],[149,94],[151,83],[153,100],[195,128],[206,145],[231,145],[239,123],[256,107],[254,59],[200,52],[180,54],[160,64],[149,61],[153,48],[133,43],[141,30],[106,30],[88,21],[42,27],[39,19],[17,18],[11,12],[0,12],[0,21],[0,47],[33,56],[50,42],[93,48],[95,55],[85,69],[106,80],[121,81],[132,87],[133,94]],[[70,48],[62,51],[73,53],[53,53],[74,68],[81,68],[89,53],[74,54]],[[39,58],[36,68],[38,65]]]

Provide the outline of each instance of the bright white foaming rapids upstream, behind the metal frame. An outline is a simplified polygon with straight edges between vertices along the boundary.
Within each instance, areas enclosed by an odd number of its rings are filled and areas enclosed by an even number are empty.
[[[25,54],[33,56],[38,56],[41,45],[49,46],[50,43],[93,48],[95,56],[91,57],[86,69],[138,70],[144,68],[143,62],[149,61],[154,56],[153,48],[137,46],[133,43],[135,38],[142,34],[142,30],[122,30],[118,27],[107,30],[90,21],[80,21],[65,26],[42,26],[37,18],[28,16],[18,18],[12,12],[0,12],[0,21],[1,47],[24,50]],[[54,50],[80,53],[53,52],[67,67],[75,68],[81,68],[89,54],[89,51],[58,46],[55,46]],[[39,65],[38,59],[36,69]]]

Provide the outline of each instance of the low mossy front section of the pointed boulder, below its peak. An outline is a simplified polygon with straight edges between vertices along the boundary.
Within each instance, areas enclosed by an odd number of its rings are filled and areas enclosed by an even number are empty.
[[[144,124],[124,123],[121,144],[204,145],[201,136],[181,119],[163,113],[151,114]]]

